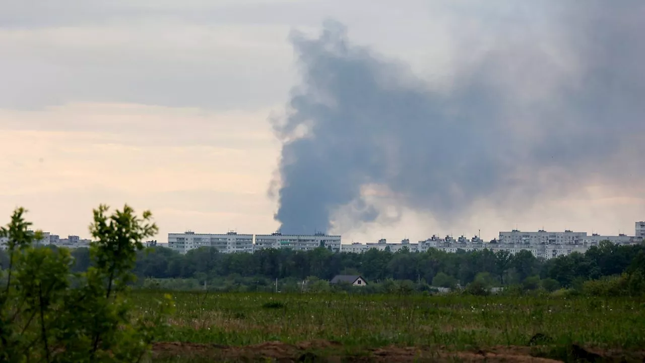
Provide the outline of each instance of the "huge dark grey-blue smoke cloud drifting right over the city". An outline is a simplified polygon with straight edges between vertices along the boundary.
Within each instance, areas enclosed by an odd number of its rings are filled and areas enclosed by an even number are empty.
[[[294,33],[303,79],[274,123],[283,233],[326,231],[347,205],[354,223],[378,220],[364,185],[452,223],[475,202],[521,212],[643,178],[645,3],[552,5],[550,35],[515,23],[482,54],[462,47],[444,88],[352,45],[334,21],[317,39]]]

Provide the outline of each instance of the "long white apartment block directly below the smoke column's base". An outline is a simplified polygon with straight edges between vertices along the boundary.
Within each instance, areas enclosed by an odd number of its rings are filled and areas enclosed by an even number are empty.
[[[324,247],[333,252],[341,252],[341,236],[316,234],[255,234],[255,249],[288,248],[295,251],[312,251]]]

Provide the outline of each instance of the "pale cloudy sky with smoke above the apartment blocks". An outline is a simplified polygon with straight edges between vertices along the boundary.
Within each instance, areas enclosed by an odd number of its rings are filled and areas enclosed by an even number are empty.
[[[55,4],[0,0],[3,224],[88,237],[128,203],[159,242],[350,243],[645,220],[637,1]]]

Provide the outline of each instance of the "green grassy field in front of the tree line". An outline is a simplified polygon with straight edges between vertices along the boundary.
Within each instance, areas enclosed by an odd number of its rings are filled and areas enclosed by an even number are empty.
[[[155,294],[160,293],[137,291],[133,298],[146,310]],[[177,309],[170,327],[160,329],[159,340],[191,343],[194,345],[183,347],[198,351],[213,344],[219,347],[211,350],[217,351],[223,346],[261,347],[274,341],[295,347],[310,342],[301,350],[321,348],[328,353],[342,351],[342,355],[361,355],[384,347],[480,351],[540,346],[553,350],[579,344],[621,352],[645,347],[645,303],[624,298],[172,295]],[[190,353],[191,349],[187,350]],[[175,353],[157,360],[181,361],[184,353]]]

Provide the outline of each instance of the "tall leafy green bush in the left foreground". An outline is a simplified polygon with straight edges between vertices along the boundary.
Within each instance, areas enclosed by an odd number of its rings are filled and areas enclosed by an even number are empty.
[[[68,249],[34,246],[42,234],[29,230],[25,209],[0,229],[9,256],[0,287],[0,362],[138,362],[150,351],[173,302],[165,296],[137,316],[126,293],[141,241],[157,226],[150,212],[137,218],[128,205],[109,217],[107,211],[94,211],[92,266],[84,273],[70,272]]]

